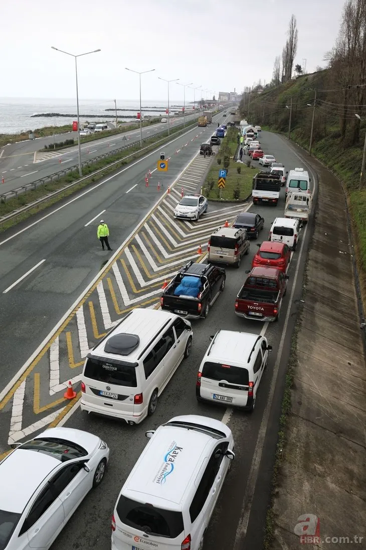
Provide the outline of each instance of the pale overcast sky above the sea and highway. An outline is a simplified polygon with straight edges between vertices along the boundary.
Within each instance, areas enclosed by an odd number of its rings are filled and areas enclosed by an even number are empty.
[[[51,50],[79,54],[79,97],[135,100],[138,71],[142,97],[163,100],[180,82],[219,91],[242,91],[268,82],[281,54],[291,14],[298,26],[295,63],[307,72],[324,66],[334,45],[343,0],[12,0],[2,2],[0,75],[2,97],[75,96],[74,60]],[[186,100],[193,90],[186,90]],[[199,92],[197,92],[198,95]],[[171,100],[183,88],[170,85]],[[211,94],[210,94],[211,96]],[[206,97],[206,95],[204,96]],[[196,95],[197,100],[197,95]]]

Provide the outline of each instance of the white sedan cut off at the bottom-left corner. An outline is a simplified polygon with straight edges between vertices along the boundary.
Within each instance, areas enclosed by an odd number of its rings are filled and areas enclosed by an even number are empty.
[[[51,428],[0,462],[0,548],[48,549],[92,487],[103,480],[107,443]]]

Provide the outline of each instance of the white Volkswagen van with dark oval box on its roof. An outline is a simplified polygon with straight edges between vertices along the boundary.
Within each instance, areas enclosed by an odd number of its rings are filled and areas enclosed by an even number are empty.
[[[191,353],[192,327],[174,313],[136,308],[87,355],[81,410],[129,424],[152,415],[159,395]]]

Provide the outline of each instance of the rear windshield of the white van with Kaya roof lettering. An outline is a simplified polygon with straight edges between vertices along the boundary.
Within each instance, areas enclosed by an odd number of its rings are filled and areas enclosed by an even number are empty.
[[[152,535],[176,538],[184,531],[181,512],[142,504],[123,495],[117,503],[117,514],[125,525]]]

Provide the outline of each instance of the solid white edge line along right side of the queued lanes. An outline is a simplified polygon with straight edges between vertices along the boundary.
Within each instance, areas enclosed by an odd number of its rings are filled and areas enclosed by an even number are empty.
[[[296,155],[296,153],[295,153],[295,155]],[[301,159],[300,156],[298,156],[298,155],[296,155],[296,156],[298,158],[300,158],[300,160],[302,162],[304,162]],[[304,164],[306,164],[308,166],[308,164],[306,162],[304,162]],[[313,182],[314,182],[313,185],[314,185],[314,191],[315,191],[316,184],[315,184],[314,174],[313,174],[311,168],[309,169],[309,171],[310,171],[310,173],[312,174],[312,177],[313,177]],[[282,335],[281,335],[277,360],[276,360],[275,366],[273,368],[273,377],[272,377],[271,386],[270,386],[270,390],[269,390],[267,405],[266,405],[265,410],[264,410],[264,415],[263,415],[263,418],[262,418],[262,422],[260,423],[258,436],[257,436],[256,447],[255,447],[254,453],[253,453],[252,465],[251,465],[251,469],[249,471],[247,487],[246,487],[246,491],[245,491],[243,502],[242,502],[241,513],[240,513],[240,518],[241,519],[239,521],[239,524],[238,524],[237,530],[236,530],[234,550],[240,550],[240,548],[242,548],[243,538],[246,536],[246,532],[247,532],[247,529],[248,529],[249,517],[250,517],[250,514],[251,514],[251,510],[252,510],[253,496],[254,496],[254,491],[256,489],[257,479],[258,479],[258,474],[259,474],[260,460],[262,459],[264,440],[265,440],[265,435],[267,433],[269,415],[270,415],[270,410],[271,410],[271,406],[272,406],[273,398],[274,398],[274,391],[275,391],[275,387],[276,387],[276,383],[277,383],[277,379],[278,379],[279,367],[280,367],[280,362],[281,362],[281,357],[282,357],[282,350],[284,348],[285,336],[286,336],[286,332],[287,332],[287,326],[289,324],[289,319],[290,319],[291,304],[292,304],[292,300],[293,300],[293,295],[295,294],[296,281],[297,281],[297,277],[298,277],[298,271],[299,271],[300,265],[301,265],[300,260],[301,260],[301,257],[302,257],[302,252],[303,252],[303,248],[304,248],[304,244],[305,244],[305,237],[306,237],[307,230],[308,230],[308,224],[306,224],[306,227],[305,227],[305,230],[304,230],[304,233],[303,233],[300,253],[299,253],[298,259],[297,259],[297,266],[296,266],[295,276],[293,277],[293,285],[292,285],[292,290],[291,290],[291,295],[290,295],[290,300],[289,300],[289,306],[287,307],[287,313],[286,313],[286,317],[285,317],[285,324],[284,324],[284,329],[283,329]]]

